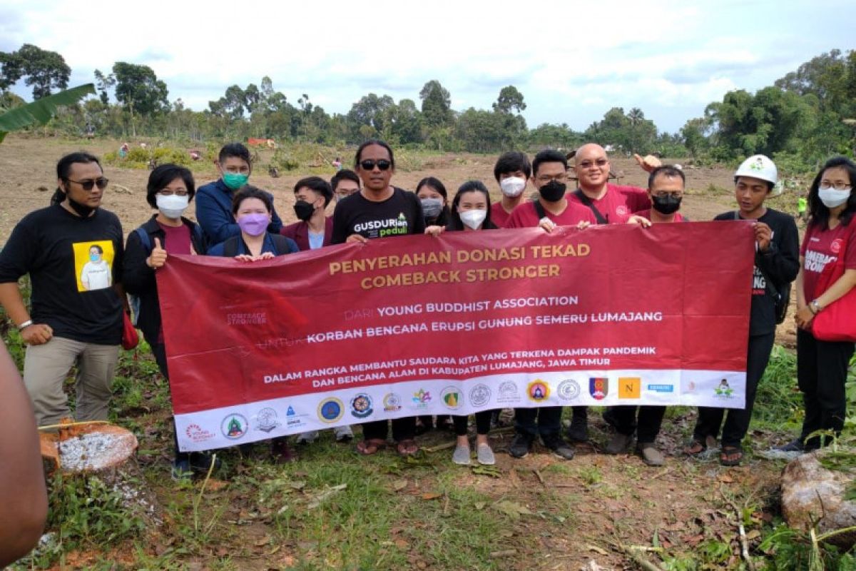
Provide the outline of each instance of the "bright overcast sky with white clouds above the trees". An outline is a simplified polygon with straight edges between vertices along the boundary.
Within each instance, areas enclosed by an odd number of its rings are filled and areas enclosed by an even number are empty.
[[[69,86],[114,62],[152,67],[194,110],[269,75],[347,113],[369,92],[419,106],[439,80],[455,110],[490,109],[503,86],[529,127],[587,128],[639,107],[675,132],[734,89],[757,90],[833,49],[856,48],[853,0],[777,2],[52,2],[3,0],[0,51],[58,51]],[[15,92],[32,98],[23,85]]]

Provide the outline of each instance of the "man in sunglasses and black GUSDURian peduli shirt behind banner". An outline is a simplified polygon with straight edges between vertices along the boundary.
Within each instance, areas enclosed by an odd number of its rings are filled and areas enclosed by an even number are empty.
[[[340,200],[333,212],[333,243],[365,243],[389,236],[422,234],[425,216],[416,195],[390,183],[395,174],[392,147],[382,140],[367,140],[354,158],[363,182],[359,193]],[[392,437],[399,455],[414,455],[419,446],[413,440],[415,419],[392,420]],[[357,444],[362,455],[377,454],[386,446],[387,420],[363,424],[363,440]]]

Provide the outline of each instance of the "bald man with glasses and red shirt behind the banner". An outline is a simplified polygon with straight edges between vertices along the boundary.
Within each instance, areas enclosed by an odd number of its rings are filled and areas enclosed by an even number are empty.
[[[644,170],[651,172],[660,166],[655,157],[633,155]],[[574,153],[574,173],[578,188],[568,199],[584,205],[594,214],[598,224],[626,223],[633,212],[651,208],[645,188],[627,187],[609,182],[609,157],[602,146],[588,143]],[[574,442],[588,440],[588,407],[571,407],[573,416],[568,438]]]

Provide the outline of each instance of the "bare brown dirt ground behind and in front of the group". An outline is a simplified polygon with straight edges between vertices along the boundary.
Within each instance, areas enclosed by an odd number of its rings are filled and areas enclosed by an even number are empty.
[[[0,177],[3,204],[0,242],[6,240],[14,224],[27,212],[48,204],[56,187],[56,160],[62,154],[82,148],[102,155],[118,146],[117,141],[7,138],[0,145],[0,172],[3,172]],[[426,160],[420,170],[397,172],[393,182],[396,186],[413,189],[420,178],[434,175],[446,184],[451,194],[461,182],[479,179],[491,188],[493,199],[498,199],[499,191],[492,175],[494,159],[479,155],[437,156]],[[346,163],[349,160],[352,159],[346,159]],[[632,159],[613,158],[612,164],[614,170],[624,172],[622,184],[645,187],[647,175]],[[305,173],[287,173],[272,179],[261,171],[259,169],[253,174],[253,183],[274,193],[276,209],[284,220],[294,220],[292,185]],[[328,175],[333,172],[330,168]],[[733,187],[730,170],[703,168],[686,172],[688,193],[682,212],[693,220],[709,220],[734,208],[733,194],[728,190]],[[111,186],[106,192],[104,207],[121,218],[127,235],[152,215],[145,199],[148,171],[106,166],[105,175],[110,178]],[[212,167],[196,172],[198,184],[215,178]],[[120,187],[127,188],[127,191]],[[791,337],[789,330],[793,327],[786,325],[780,329],[780,340],[788,342]],[[645,467],[639,458],[633,456],[598,454],[597,450],[606,443],[610,433],[599,414],[592,413],[591,417],[593,442],[580,446],[574,461],[558,460],[540,448],[526,459],[514,461],[504,454],[511,437],[501,434],[493,442],[502,478],[467,472],[455,479],[455,486],[473,489],[491,498],[514,497],[517,503],[536,514],[526,515],[508,528],[505,539],[508,553],[499,554],[492,562],[485,562],[485,568],[580,569],[590,560],[603,568],[627,568],[627,558],[615,549],[616,539],[623,544],[651,545],[655,534],[664,548],[677,548],[689,553],[710,538],[731,541],[736,546],[734,515],[729,515],[728,509],[723,508],[722,492],[734,497],[753,497],[752,505],[757,509],[752,517],[758,520],[770,520],[776,511],[781,463],[763,461],[750,455],[743,466],[726,468],[720,467],[715,457],[697,461],[681,455],[683,440],[692,431],[693,412],[670,413],[664,422],[658,443],[669,457],[666,466],[661,468]],[[778,436],[755,433],[753,437],[757,448],[761,449]],[[421,437],[421,443],[432,446],[449,438],[448,434],[432,432]],[[155,439],[168,440],[169,436],[157,437],[147,433],[141,439],[141,448],[166,448],[166,443],[152,442]],[[443,455],[439,469],[452,470],[451,463],[445,458],[445,455],[451,455],[451,451],[437,454]],[[164,457],[166,453],[158,461],[163,461]],[[372,459],[354,456],[354,461]],[[420,490],[430,489],[431,479],[426,480],[419,485],[413,482],[396,493],[416,495]],[[169,480],[157,491],[163,502],[168,503],[173,493]],[[229,494],[229,491],[218,493]],[[234,497],[227,518],[232,512],[244,509],[245,500]],[[401,521],[400,524],[405,536],[419,532],[419,521]],[[247,535],[241,535],[244,532],[237,530],[237,535],[231,538],[232,544],[248,546],[245,556],[233,560],[238,568],[279,568],[287,566],[289,561],[294,562],[300,545],[289,547],[286,544],[285,549],[271,555],[269,546],[253,543],[255,538],[264,536],[266,532],[263,523],[258,526],[254,532],[253,528],[257,526],[242,528]],[[86,567],[89,557],[78,555],[77,564]],[[209,555],[216,557],[215,550],[212,549]],[[208,561],[204,553],[199,556],[202,562]],[[431,562],[430,557],[420,558],[419,554],[414,557],[415,567],[442,568]],[[133,558],[133,552],[116,554],[117,560],[128,562]],[[69,563],[76,566],[71,561]],[[737,563],[739,556],[733,555],[723,567]],[[323,567],[323,562],[319,565]]]

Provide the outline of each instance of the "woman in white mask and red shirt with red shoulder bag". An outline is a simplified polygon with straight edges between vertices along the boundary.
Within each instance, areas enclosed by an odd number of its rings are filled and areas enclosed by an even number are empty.
[[[856,341],[856,164],[829,159],[811,183],[797,276],[797,378],[805,402],[800,437],[786,451],[817,449],[816,431],[841,432],[844,384]],[[811,436],[811,437],[810,437]],[[829,443],[829,439],[827,439]]]

